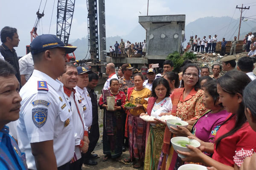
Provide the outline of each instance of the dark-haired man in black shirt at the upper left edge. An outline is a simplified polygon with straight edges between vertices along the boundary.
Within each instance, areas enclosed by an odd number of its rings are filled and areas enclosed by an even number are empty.
[[[3,42],[2,45],[0,45],[0,53],[2,54],[4,59],[15,68],[15,76],[20,82],[20,67],[18,57],[14,49],[14,47],[17,47],[19,45],[20,41],[17,34],[17,29],[6,26],[1,30],[0,37],[1,41]]]

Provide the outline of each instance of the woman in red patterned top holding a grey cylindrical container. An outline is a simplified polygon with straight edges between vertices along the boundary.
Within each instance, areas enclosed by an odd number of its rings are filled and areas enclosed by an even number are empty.
[[[104,98],[101,95],[99,98],[99,108],[104,109],[103,116],[103,153],[105,157],[103,161],[108,158],[116,159],[122,154],[123,143],[123,119],[124,119],[124,104],[125,93],[119,91],[118,79],[110,80],[110,90],[105,90]],[[106,92],[107,91],[107,92]],[[115,106],[113,111],[108,111],[106,96],[115,97]]]

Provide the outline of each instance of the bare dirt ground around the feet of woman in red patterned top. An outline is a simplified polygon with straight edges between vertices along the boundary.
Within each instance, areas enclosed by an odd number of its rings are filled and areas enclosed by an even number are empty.
[[[102,144],[102,135],[103,135],[103,111],[99,109],[99,141],[94,149],[93,153],[98,154],[99,158],[95,159],[98,164],[96,166],[83,165],[82,170],[136,170],[133,168],[132,163],[122,163],[120,161],[113,161],[108,159],[108,161],[103,162],[103,144]],[[125,158],[129,157],[129,150],[126,148],[126,151],[123,152],[120,160],[122,161]],[[139,170],[143,170],[143,167]]]

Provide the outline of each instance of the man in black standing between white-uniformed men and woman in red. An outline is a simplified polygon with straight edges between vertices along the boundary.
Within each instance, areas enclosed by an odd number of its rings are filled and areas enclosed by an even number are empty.
[[[97,94],[94,92],[94,88],[98,85],[99,82],[99,76],[96,73],[89,74],[89,83],[87,85],[87,91],[89,93],[89,96],[91,98],[92,107],[93,107],[93,123],[90,128],[89,133],[89,148],[87,153],[84,157],[84,164],[88,165],[96,165],[98,164],[96,161],[94,161],[94,158],[97,158],[97,154],[91,154],[96,147],[96,144],[99,140],[99,116],[98,116],[98,104],[97,104]]]

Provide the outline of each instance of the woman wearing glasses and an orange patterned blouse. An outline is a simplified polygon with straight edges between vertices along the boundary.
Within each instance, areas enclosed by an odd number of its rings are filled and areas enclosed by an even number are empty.
[[[206,111],[206,108],[203,105],[204,91],[199,87],[198,66],[195,64],[185,65],[183,68],[181,88],[174,89],[171,99],[172,115],[180,117],[183,121],[188,122],[189,130],[191,130],[195,121]],[[181,159],[170,145],[170,140],[173,136],[174,135],[169,131],[168,127],[166,127],[158,169],[175,169],[175,167],[179,167],[181,164]]]

